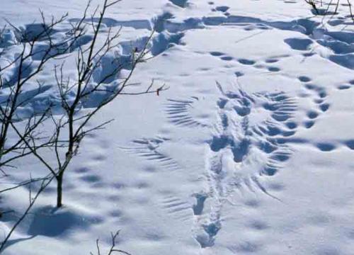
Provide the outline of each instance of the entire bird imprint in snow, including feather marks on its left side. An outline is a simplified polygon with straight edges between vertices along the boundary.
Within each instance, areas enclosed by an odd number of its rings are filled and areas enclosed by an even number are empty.
[[[279,200],[267,191],[262,180],[274,176],[291,157],[291,145],[297,141],[292,136],[299,127],[294,115],[300,110],[306,111],[305,118],[309,120],[304,121],[304,128],[312,128],[315,119],[329,108],[325,103],[326,91],[306,82],[305,94],[309,96],[304,100],[313,101],[320,111],[299,108],[297,101],[303,96],[290,96],[285,92],[249,94],[241,88],[224,89],[218,83],[217,89],[220,96],[215,101],[215,123],[200,118],[208,115],[202,114],[198,97],[170,99],[166,104],[169,122],[176,127],[207,128],[211,133],[210,139],[205,141],[207,190],[193,194],[196,202],[190,206],[190,215],[195,219],[193,237],[202,248],[214,245],[217,232],[222,228],[222,207],[225,202],[232,203],[234,195],[260,193]],[[125,149],[163,164],[164,168],[181,169],[178,161],[167,156],[161,147],[169,142],[166,138],[134,140],[138,146]],[[178,200],[176,205],[183,205],[183,219],[188,217],[185,208],[188,203]],[[180,208],[176,210],[180,212]]]

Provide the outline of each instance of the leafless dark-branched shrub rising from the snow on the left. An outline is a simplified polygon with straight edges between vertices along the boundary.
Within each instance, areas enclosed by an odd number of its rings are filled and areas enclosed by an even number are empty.
[[[103,39],[100,32],[104,27],[103,20],[108,8],[119,1],[121,0],[103,0],[101,8],[98,6],[92,15],[89,15],[89,2],[84,15],[70,23],[70,29],[66,33],[68,36],[59,41],[53,36],[53,32],[57,26],[67,21],[67,15],[57,20],[52,18],[47,22],[44,13],[41,13],[42,23],[33,24],[33,29],[25,32],[9,23],[16,32],[16,40],[22,46],[22,50],[16,59],[0,66],[0,89],[10,91],[5,100],[0,103],[0,170],[6,175],[4,167],[11,167],[11,162],[30,155],[38,159],[49,174],[38,179],[31,178],[0,191],[0,193],[14,191],[33,182],[40,183],[36,190],[30,191],[28,207],[6,234],[4,241],[1,242],[0,251],[4,249],[14,229],[28,215],[35,201],[52,181],[57,183],[57,208],[62,207],[64,174],[79,151],[82,140],[91,132],[101,130],[112,121],[107,120],[93,128],[88,128],[87,124],[98,111],[119,95],[137,96],[152,93],[159,95],[160,91],[166,89],[164,86],[154,88],[152,82],[140,91],[127,90],[128,87],[137,85],[130,83],[137,65],[149,59],[148,46],[153,33],[142,48],[132,48],[129,57],[121,58],[116,55],[115,50],[119,46],[118,37],[121,30],[114,31],[113,28],[108,28],[105,30]],[[87,38],[87,30],[92,31],[92,36],[89,42],[81,43]],[[5,28],[0,35],[4,35],[4,31]],[[1,43],[4,41],[0,40]],[[42,47],[43,42],[45,47]],[[74,60],[69,56],[74,56]],[[96,72],[102,69],[103,62],[107,59],[110,60],[110,68],[97,77]],[[43,86],[47,85],[37,77],[50,60],[62,60],[61,64],[55,65],[53,71],[53,78],[57,85],[57,101],[49,101],[40,111],[23,115],[22,106],[25,106],[33,96],[40,94]],[[67,62],[76,63],[74,77],[65,74]],[[9,76],[8,74],[13,73],[13,70],[15,75]],[[24,88],[33,81],[38,83],[38,93],[29,98],[24,95]],[[93,101],[94,104],[83,109],[88,101]],[[26,124],[23,125],[23,122]],[[48,127],[52,127],[52,131],[48,130]],[[15,140],[11,138],[11,142],[7,139],[9,132],[16,137]],[[118,232],[113,235],[113,244],[116,237]],[[113,249],[110,254],[113,251],[118,250]]]

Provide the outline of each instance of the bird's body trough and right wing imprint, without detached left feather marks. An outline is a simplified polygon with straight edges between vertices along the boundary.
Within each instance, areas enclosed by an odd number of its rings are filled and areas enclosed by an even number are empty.
[[[198,216],[193,232],[202,248],[213,246],[222,228],[223,203],[236,191],[249,190],[272,196],[262,185],[260,176],[273,176],[290,158],[292,150],[277,137],[290,137],[297,125],[289,124],[297,109],[294,98],[284,93],[247,94],[242,89],[227,91],[217,101],[219,121],[209,141],[205,167],[210,213]],[[204,193],[203,193],[204,194]],[[198,203],[197,203],[198,205]],[[198,207],[200,215],[202,210]]]

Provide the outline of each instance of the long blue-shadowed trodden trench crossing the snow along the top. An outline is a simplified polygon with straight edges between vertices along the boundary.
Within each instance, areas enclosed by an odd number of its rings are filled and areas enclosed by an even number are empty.
[[[186,0],[170,0],[174,5],[185,8],[188,6]],[[353,61],[350,55],[353,54],[353,32],[342,31],[332,32],[321,28],[321,24],[315,21],[310,21],[306,18],[300,18],[294,21],[263,21],[260,18],[234,16],[227,13],[228,6],[217,6],[215,11],[221,11],[222,16],[205,16],[202,18],[188,18],[182,22],[173,21],[171,13],[163,13],[157,18],[138,21],[116,21],[112,18],[107,18],[103,23],[107,26],[131,26],[136,29],[157,28],[158,33],[169,31],[169,33],[181,33],[190,29],[202,29],[206,26],[222,26],[232,24],[234,26],[243,26],[245,30],[254,29],[280,29],[290,30],[302,33],[302,37],[287,38],[285,43],[290,45],[294,50],[307,50],[314,42],[317,42],[323,47],[327,47],[333,51],[333,54],[328,58],[336,64],[343,67],[354,69]],[[228,14],[228,15],[224,15]],[[339,20],[338,20],[339,21]],[[345,21],[340,21],[341,23]],[[152,25],[153,24],[153,25]],[[178,40],[177,40],[178,41]],[[176,43],[176,42],[173,42]],[[307,52],[304,55],[311,56],[314,52]]]

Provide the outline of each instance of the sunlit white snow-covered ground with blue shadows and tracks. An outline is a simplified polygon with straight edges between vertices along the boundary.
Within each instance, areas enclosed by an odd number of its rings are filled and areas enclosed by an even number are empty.
[[[64,208],[48,188],[4,254],[89,254],[118,229],[118,247],[135,255],[354,254],[354,25],[341,2],[333,16],[300,0],[110,9],[104,23],[122,26],[122,55],[156,28],[154,58],[133,79],[169,89],[104,108],[91,125],[115,121],[81,145]],[[0,25],[31,28],[39,8],[80,18],[85,4],[3,0]],[[0,50],[11,59],[8,38]],[[52,96],[50,68],[42,79],[24,115]],[[45,171],[28,158],[0,185]],[[27,203],[27,188],[1,197],[18,215]],[[16,218],[2,219],[1,238]]]

